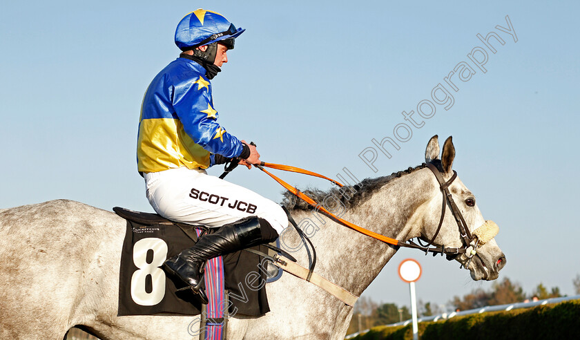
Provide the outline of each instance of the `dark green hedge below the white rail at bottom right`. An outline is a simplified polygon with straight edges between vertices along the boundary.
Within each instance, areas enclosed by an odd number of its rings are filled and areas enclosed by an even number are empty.
[[[418,324],[419,338],[436,339],[577,339],[580,300],[534,308],[490,312]],[[378,326],[354,340],[410,340],[412,325]]]

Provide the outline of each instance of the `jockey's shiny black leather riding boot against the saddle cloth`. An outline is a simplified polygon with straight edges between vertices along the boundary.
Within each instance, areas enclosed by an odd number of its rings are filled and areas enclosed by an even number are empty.
[[[202,303],[207,303],[207,296],[201,289],[202,268],[206,260],[220,254],[269,243],[276,238],[278,238],[278,233],[263,218],[255,216],[244,218],[220,227],[213,234],[202,236],[193,247],[168,258],[162,268],[168,274],[177,276],[187,283],[194,292],[200,294]]]

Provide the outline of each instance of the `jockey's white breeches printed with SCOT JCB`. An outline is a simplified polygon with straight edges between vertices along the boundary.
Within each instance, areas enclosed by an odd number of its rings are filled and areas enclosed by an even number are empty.
[[[147,199],[157,214],[176,222],[221,227],[248,216],[267,220],[278,234],[288,226],[280,205],[204,170],[186,167],[145,174]]]

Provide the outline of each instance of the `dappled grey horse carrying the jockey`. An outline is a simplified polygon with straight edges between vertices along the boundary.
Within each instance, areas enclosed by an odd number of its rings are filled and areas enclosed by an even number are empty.
[[[439,160],[434,136],[426,162],[441,162],[452,175],[455,149],[449,138]],[[442,195],[432,171],[364,180],[351,194],[336,199],[341,217],[396,238],[430,240],[441,216]],[[474,196],[458,178],[450,187],[469,228],[485,223]],[[331,193],[331,191],[329,191]],[[336,192],[335,192],[336,193]],[[318,196],[329,197],[318,192]],[[336,196],[335,196],[336,197]],[[467,202],[467,203],[466,203]],[[300,225],[310,222],[318,274],[360,296],[396,253],[397,247],[339,225],[287,198]],[[78,326],[101,339],[198,339],[192,316],[117,317],[119,261],[126,223],[110,211],[70,200],[53,200],[0,211],[0,338],[63,339]],[[314,231],[314,232],[313,232]],[[282,243],[298,247],[294,231]],[[449,209],[434,245],[461,247],[458,226]],[[293,253],[307,265],[305,248]],[[462,254],[456,261],[467,263]],[[505,256],[494,239],[479,247],[468,270],[474,280],[494,280]],[[267,285],[271,312],[251,318],[233,315],[228,339],[343,339],[353,308],[306,281],[284,274]]]

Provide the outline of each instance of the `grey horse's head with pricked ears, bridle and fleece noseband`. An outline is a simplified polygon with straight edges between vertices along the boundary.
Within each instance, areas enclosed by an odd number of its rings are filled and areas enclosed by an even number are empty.
[[[454,258],[463,267],[467,267],[474,280],[494,280],[506,262],[505,255],[494,239],[498,232],[497,225],[492,221],[485,221],[477,207],[474,194],[459,178],[454,178],[454,158],[455,148],[451,137],[443,144],[441,159],[437,135],[429,140],[425,150],[425,162],[433,164],[438,169],[437,171],[432,167],[434,173],[441,173],[442,178],[432,176],[433,195],[425,205],[421,238],[432,240],[434,245],[445,248],[466,249],[456,256],[447,253],[447,258]],[[451,199],[447,197],[449,194]],[[443,209],[443,221],[440,222]],[[458,213],[454,213],[454,209]],[[467,227],[467,231],[462,230],[462,225]]]

